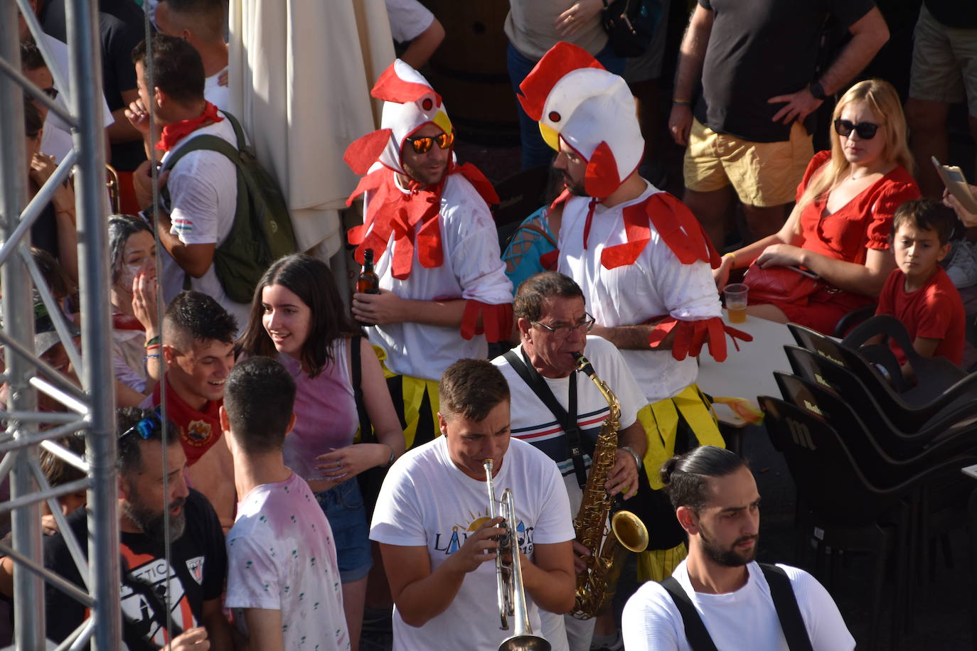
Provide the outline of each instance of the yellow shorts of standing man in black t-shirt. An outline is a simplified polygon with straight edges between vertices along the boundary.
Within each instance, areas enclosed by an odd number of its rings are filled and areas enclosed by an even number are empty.
[[[693,120],[683,166],[685,186],[711,192],[732,183],[746,205],[780,206],[796,197],[812,156],[811,137],[797,122],[790,127],[789,141],[748,142]]]

